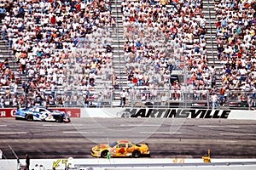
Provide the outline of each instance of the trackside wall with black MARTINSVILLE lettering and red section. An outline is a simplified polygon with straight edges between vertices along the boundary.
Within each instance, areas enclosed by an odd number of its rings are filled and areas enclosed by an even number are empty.
[[[256,120],[256,111],[212,109],[154,109],[154,108],[54,108],[71,117],[151,117]],[[16,108],[0,109],[1,117],[15,117]]]

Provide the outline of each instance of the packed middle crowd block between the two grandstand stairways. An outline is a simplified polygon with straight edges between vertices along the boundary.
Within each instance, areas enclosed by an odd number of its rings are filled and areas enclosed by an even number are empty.
[[[206,99],[207,90],[216,90],[215,68],[207,65],[202,5],[200,0],[123,1],[129,87],[171,90],[172,99],[181,99],[181,90],[194,93],[193,99]],[[187,82],[172,80],[174,69],[188,75]]]

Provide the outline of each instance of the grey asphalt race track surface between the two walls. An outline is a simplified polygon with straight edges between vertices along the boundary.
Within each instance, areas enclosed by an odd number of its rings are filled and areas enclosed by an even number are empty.
[[[148,143],[153,158],[255,158],[256,122],[227,119],[73,118],[70,123],[0,119],[3,158],[91,158],[96,144]],[[15,154],[13,151],[15,151]]]

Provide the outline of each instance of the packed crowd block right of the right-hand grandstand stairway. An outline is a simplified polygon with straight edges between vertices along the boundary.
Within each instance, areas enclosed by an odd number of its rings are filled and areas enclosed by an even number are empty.
[[[216,39],[227,99],[256,99],[256,2],[218,1]],[[229,96],[227,96],[229,94]]]

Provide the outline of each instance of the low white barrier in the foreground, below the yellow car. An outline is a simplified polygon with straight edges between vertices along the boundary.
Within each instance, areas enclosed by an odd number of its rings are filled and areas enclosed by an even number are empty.
[[[25,160],[20,160],[21,166],[25,165]],[[184,169],[184,167],[189,167],[189,169],[196,169],[199,167],[204,167],[204,169],[214,169],[218,167],[229,167],[232,169],[231,165],[236,167],[240,167],[244,169],[244,167],[250,167],[251,169],[255,169],[256,167],[256,159],[212,159],[211,163],[204,163],[202,159],[191,159],[191,158],[165,158],[165,159],[151,159],[151,158],[143,158],[143,159],[119,159],[119,158],[111,158],[111,159],[103,159],[103,158],[91,158],[91,159],[31,159],[30,169],[37,169],[37,167],[44,167],[45,170],[52,170],[55,167],[56,170],[64,170],[67,167],[68,169],[78,169],[85,170],[89,167],[93,167],[96,169],[122,169],[122,168],[140,168],[140,169],[171,169],[171,167],[175,167],[175,169]],[[18,164],[17,160],[0,160],[0,169],[6,169],[8,167],[9,170],[17,170]]]

